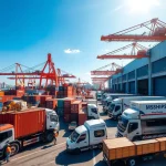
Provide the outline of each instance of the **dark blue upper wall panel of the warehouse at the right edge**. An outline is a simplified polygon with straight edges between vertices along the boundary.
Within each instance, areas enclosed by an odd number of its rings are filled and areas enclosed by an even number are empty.
[[[152,73],[159,73],[166,71],[166,58],[152,63]]]

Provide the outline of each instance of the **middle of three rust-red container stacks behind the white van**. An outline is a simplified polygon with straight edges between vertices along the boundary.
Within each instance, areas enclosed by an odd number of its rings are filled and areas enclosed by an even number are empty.
[[[71,104],[71,121],[79,122],[79,112],[82,108],[82,102],[75,101]]]

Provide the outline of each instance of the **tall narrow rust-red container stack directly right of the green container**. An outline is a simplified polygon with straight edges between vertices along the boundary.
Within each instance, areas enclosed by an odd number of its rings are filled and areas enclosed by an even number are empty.
[[[74,102],[74,98],[64,100],[64,122],[71,122],[71,105]]]

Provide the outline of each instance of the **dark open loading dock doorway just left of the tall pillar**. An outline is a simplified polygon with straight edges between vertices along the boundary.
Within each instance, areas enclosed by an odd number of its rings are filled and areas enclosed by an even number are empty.
[[[137,93],[148,95],[148,79],[137,81]]]

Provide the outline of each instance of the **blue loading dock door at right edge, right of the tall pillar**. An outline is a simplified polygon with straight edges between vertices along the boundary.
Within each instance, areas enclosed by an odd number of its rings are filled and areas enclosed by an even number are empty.
[[[166,76],[155,77],[153,83],[154,83],[154,95],[166,96]]]

